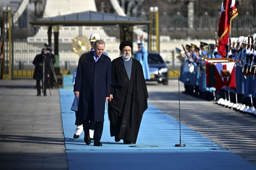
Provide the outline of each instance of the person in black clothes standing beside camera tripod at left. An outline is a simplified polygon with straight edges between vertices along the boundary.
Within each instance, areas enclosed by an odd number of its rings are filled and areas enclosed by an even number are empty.
[[[49,57],[46,57],[47,51],[45,48],[42,49],[41,54],[37,54],[33,60],[33,65],[35,65],[33,79],[37,81],[36,88],[37,88],[37,96],[41,96],[41,85],[40,82],[42,81],[43,86],[43,93],[46,96],[46,82],[49,78],[49,74],[51,71],[50,60]],[[43,69],[44,65],[44,69]],[[44,76],[43,76],[44,72]],[[44,77],[44,79],[43,79]]]

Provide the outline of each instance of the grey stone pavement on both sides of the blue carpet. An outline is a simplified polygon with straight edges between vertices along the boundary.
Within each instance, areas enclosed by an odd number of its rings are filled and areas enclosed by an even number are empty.
[[[0,80],[0,169],[68,169],[59,91],[37,97],[34,85]],[[180,88],[181,122],[256,165],[256,118],[185,95],[182,83]],[[177,80],[148,84],[148,102],[179,119],[177,89]]]

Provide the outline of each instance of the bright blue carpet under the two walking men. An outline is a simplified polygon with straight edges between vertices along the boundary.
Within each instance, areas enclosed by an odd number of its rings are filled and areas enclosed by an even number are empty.
[[[74,139],[75,114],[70,110],[74,95],[71,89],[60,89],[60,104],[66,155],[73,169],[255,169],[245,159],[217,145],[208,138],[148,104],[143,114],[137,143],[124,145],[110,137],[108,114],[101,138],[102,147],[85,145],[84,135]],[[182,144],[184,144],[182,142]],[[131,147],[133,146],[133,147]],[[97,165],[97,166],[96,166]],[[95,167],[96,166],[96,167]]]

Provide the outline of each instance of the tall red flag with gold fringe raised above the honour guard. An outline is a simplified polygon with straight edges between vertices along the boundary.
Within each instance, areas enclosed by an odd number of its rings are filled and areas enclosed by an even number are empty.
[[[226,57],[225,45],[228,44],[228,32],[231,32],[231,21],[237,15],[236,0],[223,0],[218,24],[218,52],[222,57]]]

